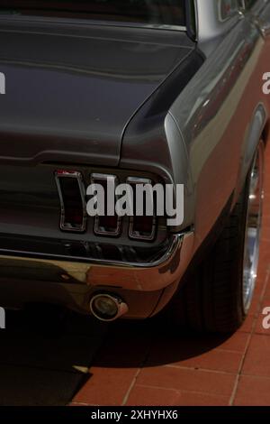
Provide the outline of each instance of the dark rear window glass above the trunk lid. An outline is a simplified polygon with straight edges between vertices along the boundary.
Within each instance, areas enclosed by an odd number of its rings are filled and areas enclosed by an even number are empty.
[[[184,0],[0,0],[0,13],[185,25]]]

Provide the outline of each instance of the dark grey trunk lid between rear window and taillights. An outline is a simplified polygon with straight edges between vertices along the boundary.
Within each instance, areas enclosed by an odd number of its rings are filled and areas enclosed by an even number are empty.
[[[0,161],[117,165],[130,117],[192,49],[179,31],[1,18]]]

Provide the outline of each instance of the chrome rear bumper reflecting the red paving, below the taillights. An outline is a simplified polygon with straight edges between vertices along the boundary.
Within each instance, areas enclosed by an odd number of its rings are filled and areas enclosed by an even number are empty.
[[[20,282],[20,297],[24,298],[23,281],[35,291],[35,299],[54,301],[54,288],[58,286],[68,291],[72,301],[66,298],[65,304],[72,309],[88,311],[89,299],[96,291],[106,291],[121,295],[129,300],[128,316],[145,318],[157,308],[161,295],[168,287],[175,287],[181,279],[193,255],[193,233],[172,235],[165,252],[148,263],[123,263],[100,259],[89,261],[76,258],[76,261],[63,261],[51,257],[31,257],[31,253],[0,255],[1,281],[5,289]],[[9,281],[13,281],[10,286]],[[41,285],[40,285],[41,284]],[[42,290],[41,290],[42,286]],[[18,286],[17,286],[18,287]],[[39,290],[40,287],[40,290]],[[0,286],[2,291],[2,282]],[[174,291],[174,290],[172,290]],[[76,293],[76,296],[73,294]],[[173,294],[173,292],[172,292]],[[14,290],[14,298],[17,290]],[[145,300],[145,308],[141,303]],[[24,300],[22,300],[24,301]],[[60,302],[60,299],[56,299]],[[71,305],[74,303],[73,305]],[[145,310],[144,310],[145,309]]]

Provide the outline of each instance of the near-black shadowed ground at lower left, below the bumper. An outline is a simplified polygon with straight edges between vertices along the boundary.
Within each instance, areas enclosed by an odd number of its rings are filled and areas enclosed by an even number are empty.
[[[106,326],[64,309],[7,311],[0,329],[0,405],[66,405],[91,378]]]

